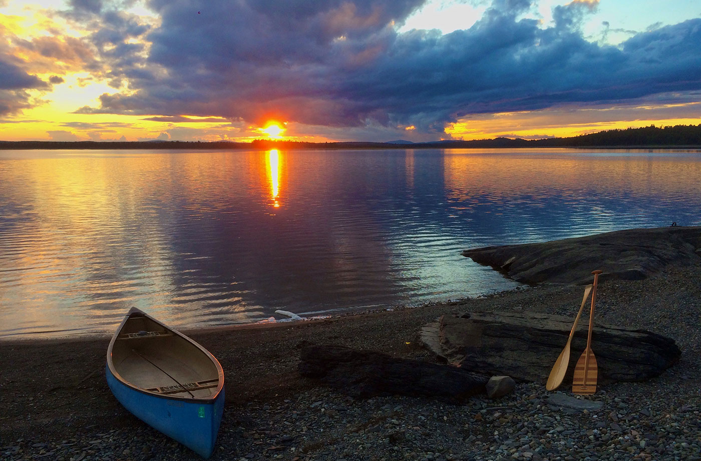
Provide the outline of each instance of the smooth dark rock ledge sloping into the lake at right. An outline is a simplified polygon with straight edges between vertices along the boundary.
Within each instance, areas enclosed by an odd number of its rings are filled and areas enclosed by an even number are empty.
[[[699,264],[701,226],[627,229],[576,239],[488,246],[462,254],[531,285],[592,283],[594,269],[604,271],[601,281],[641,280],[670,264]]]

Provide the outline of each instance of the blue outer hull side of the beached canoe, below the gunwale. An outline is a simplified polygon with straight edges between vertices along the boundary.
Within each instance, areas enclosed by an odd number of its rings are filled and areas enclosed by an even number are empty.
[[[224,389],[209,402],[187,402],[130,388],[111,373],[109,366],[106,376],[114,397],[134,416],[203,458],[212,455],[224,412]]]

